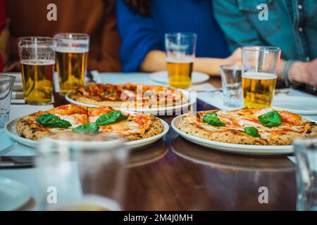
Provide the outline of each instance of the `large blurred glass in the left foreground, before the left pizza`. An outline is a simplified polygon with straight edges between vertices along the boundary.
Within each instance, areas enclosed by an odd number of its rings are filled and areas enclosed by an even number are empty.
[[[128,150],[118,136],[61,134],[43,139],[38,150],[40,209],[122,209]]]

